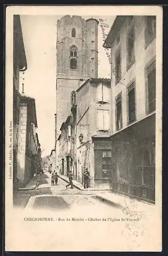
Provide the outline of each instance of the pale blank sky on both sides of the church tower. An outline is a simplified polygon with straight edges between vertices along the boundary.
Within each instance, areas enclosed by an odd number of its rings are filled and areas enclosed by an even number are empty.
[[[82,16],[90,18],[91,16]],[[36,100],[37,133],[42,157],[54,148],[54,114],[56,109],[57,77],[57,15],[20,15],[27,70],[20,74],[20,92],[24,77],[24,93]],[[93,16],[103,19],[108,34],[115,16]],[[102,28],[98,26],[98,77],[110,78],[110,65],[102,47]],[[109,26],[109,27],[108,27]]]

